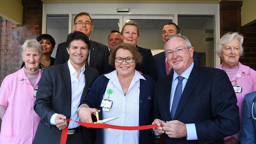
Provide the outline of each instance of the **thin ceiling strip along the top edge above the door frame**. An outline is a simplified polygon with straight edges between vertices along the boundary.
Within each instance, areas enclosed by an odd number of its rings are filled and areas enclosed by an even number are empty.
[[[219,4],[221,0],[42,0],[45,4],[78,4],[78,3],[154,3],[154,4]],[[234,0],[229,0],[234,1]],[[236,0],[243,1],[243,0]]]

